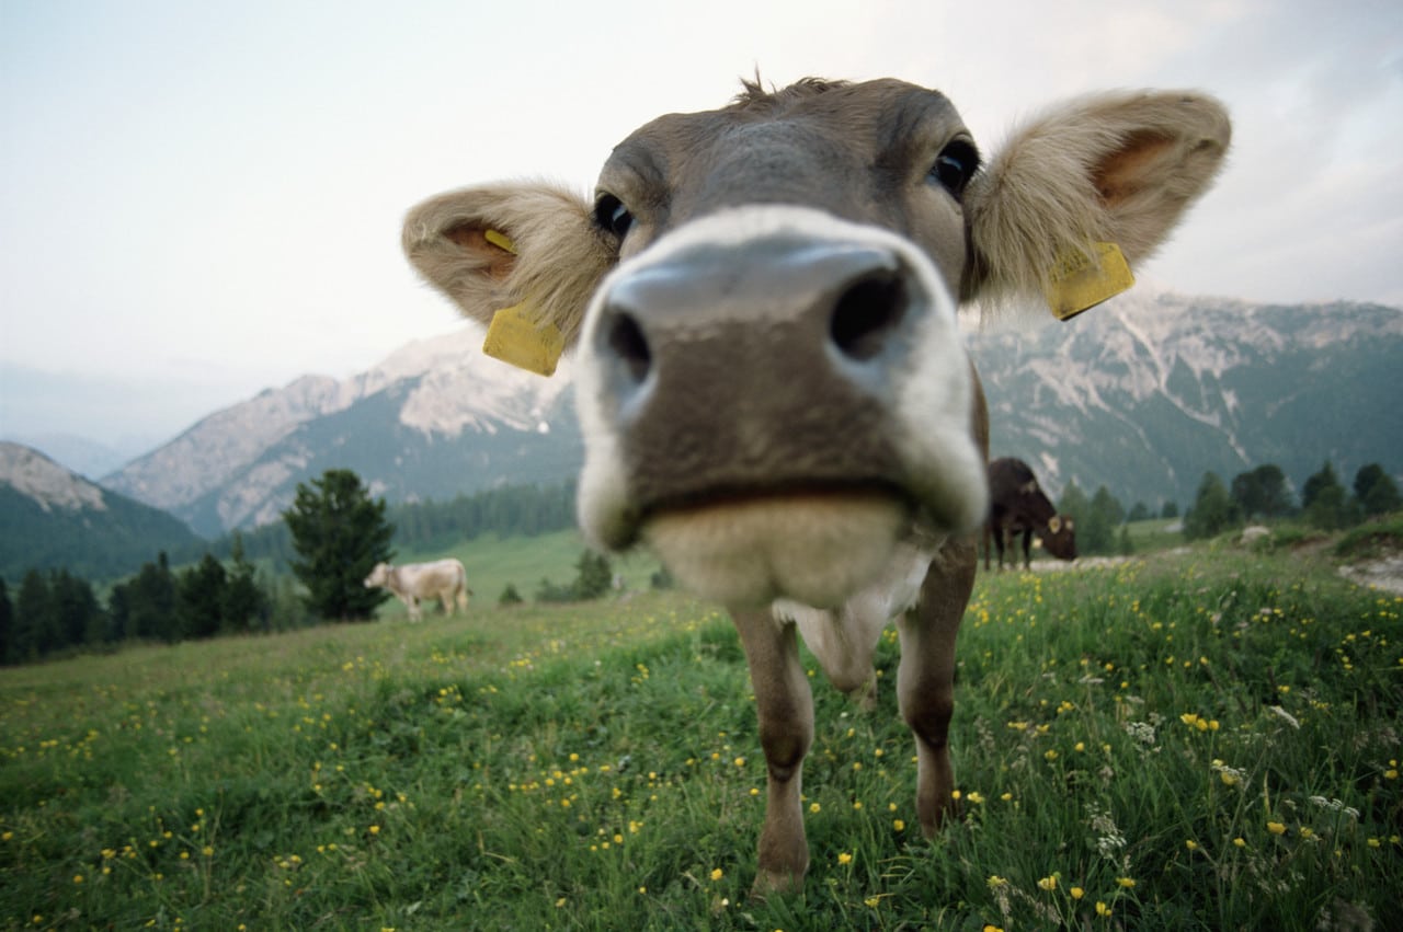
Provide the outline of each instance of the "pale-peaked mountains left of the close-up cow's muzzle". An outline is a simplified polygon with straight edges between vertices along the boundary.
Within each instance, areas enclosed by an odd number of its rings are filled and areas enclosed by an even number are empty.
[[[296,486],[355,470],[390,502],[572,477],[584,444],[568,363],[542,378],[483,356],[464,328],[415,341],[347,381],[304,376],[219,411],[102,485],[196,533],[278,520]]]

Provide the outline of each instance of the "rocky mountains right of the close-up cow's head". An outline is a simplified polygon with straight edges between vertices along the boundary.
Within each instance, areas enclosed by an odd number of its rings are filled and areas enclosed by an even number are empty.
[[[1181,509],[1212,471],[1273,462],[1299,488],[1329,460],[1348,484],[1403,468],[1403,310],[1260,306],[1135,289],[1031,335],[971,339],[991,455],[1044,485],[1106,485]]]

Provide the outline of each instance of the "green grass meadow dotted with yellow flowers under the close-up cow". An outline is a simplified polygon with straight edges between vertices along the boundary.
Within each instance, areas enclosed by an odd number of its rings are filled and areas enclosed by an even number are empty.
[[[812,866],[756,903],[730,624],[495,608],[513,572],[466,618],[0,670],[0,928],[1403,928],[1395,596],[1229,547],[984,576],[964,818],[920,838],[892,690],[815,671]]]

